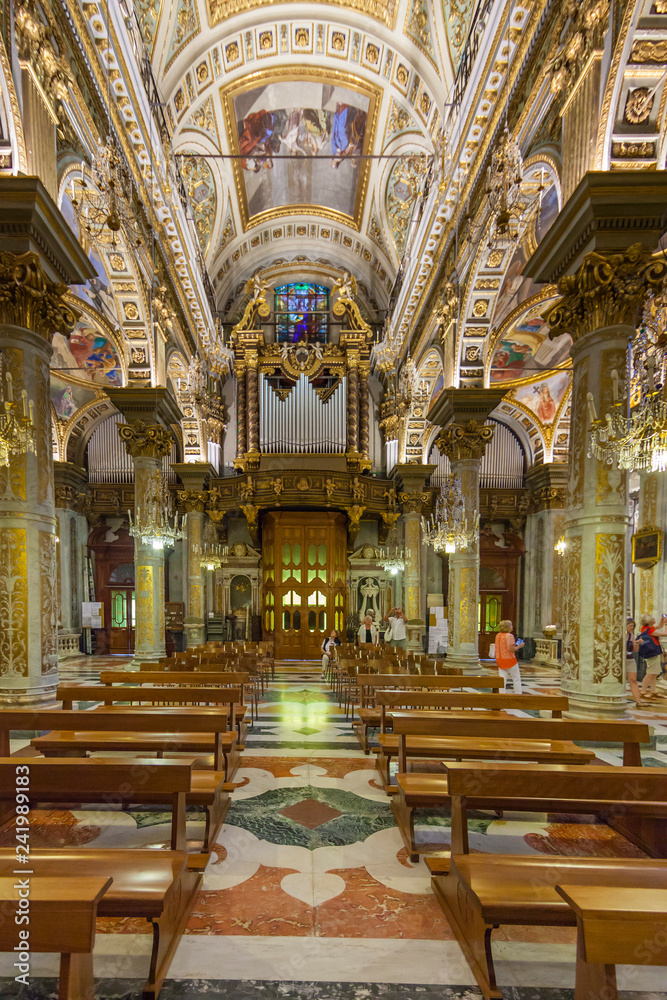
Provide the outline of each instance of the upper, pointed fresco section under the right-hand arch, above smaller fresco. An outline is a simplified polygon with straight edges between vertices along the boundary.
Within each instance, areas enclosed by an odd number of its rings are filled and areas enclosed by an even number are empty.
[[[563,333],[549,340],[549,328],[541,314],[555,300],[543,300],[527,309],[503,333],[491,361],[491,382],[508,382],[557,368],[570,354],[572,338]]]

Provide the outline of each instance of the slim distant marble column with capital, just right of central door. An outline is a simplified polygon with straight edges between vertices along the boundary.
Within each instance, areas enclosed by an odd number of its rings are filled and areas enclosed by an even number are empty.
[[[408,628],[408,648],[422,651],[421,637],[426,626],[426,595],[422,594],[422,536],[421,517],[430,504],[431,493],[426,489],[428,477],[435,465],[397,465],[396,475],[403,489],[398,494],[403,511],[403,549],[405,569],[403,571],[403,591],[405,607],[403,613],[408,621],[422,621],[423,626]]]

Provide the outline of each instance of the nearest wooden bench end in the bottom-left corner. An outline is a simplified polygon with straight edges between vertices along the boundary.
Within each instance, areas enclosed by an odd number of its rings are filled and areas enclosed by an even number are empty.
[[[105,876],[63,878],[26,876],[29,882],[29,925],[17,926],[21,875],[0,878],[0,951],[11,952],[20,963],[16,946],[26,940],[26,951],[60,954],[58,1000],[95,1000],[93,945],[97,906],[112,883]],[[19,935],[21,935],[19,937]],[[29,958],[28,955],[28,958]],[[29,969],[29,962],[25,963]],[[17,969],[18,974],[22,973]]]

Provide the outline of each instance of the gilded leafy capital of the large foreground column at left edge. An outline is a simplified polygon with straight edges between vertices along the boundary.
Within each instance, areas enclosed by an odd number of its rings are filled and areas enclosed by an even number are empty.
[[[68,286],[49,281],[33,251],[0,253],[0,323],[32,330],[51,342],[68,334],[81,313],[64,301]]]

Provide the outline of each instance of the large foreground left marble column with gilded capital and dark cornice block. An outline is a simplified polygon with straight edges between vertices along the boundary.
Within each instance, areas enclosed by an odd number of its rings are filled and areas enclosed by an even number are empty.
[[[41,182],[0,178],[0,351],[15,400],[25,389],[34,401],[36,431],[35,452],[0,467],[3,707],[48,703],[58,683],[49,360],[53,334],[69,334],[78,316],[64,302],[67,286],[92,274]]]

